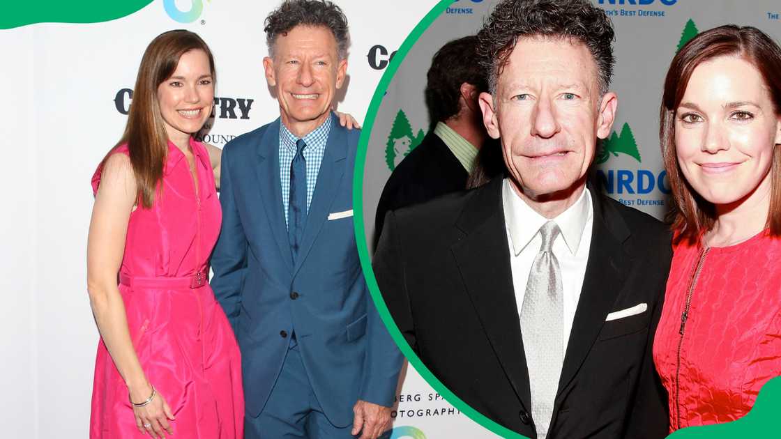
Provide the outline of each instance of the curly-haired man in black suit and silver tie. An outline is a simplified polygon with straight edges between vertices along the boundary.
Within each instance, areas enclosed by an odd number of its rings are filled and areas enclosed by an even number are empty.
[[[587,0],[505,0],[478,38],[508,177],[390,212],[383,298],[430,371],[511,430],[665,437],[651,346],[670,237],[586,184],[617,106],[612,25]]]

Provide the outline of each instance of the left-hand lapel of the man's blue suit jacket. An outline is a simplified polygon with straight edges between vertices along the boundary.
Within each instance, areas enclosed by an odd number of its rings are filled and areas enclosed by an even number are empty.
[[[287,227],[282,212],[282,184],[280,183],[280,120],[277,119],[269,125],[263,133],[258,145],[258,166],[255,166],[258,174],[259,204],[273,231],[274,241],[280,250],[280,255],[287,269],[293,270],[293,257],[291,246],[287,242]]]

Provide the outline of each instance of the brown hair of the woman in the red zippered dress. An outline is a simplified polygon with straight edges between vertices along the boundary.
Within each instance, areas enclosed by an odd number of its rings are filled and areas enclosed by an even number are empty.
[[[694,69],[702,62],[720,56],[737,56],[751,62],[765,80],[773,111],[781,113],[781,48],[756,27],[733,24],[706,30],[686,43],[670,63],[665,78],[662,108],[659,110],[659,141],[662,159],[672,187],[672,229],[677,239],[694,243],[704,231],[711,230],[716,215],[714,206],[704,200],[686,182],[676,154],[676,109],[686,92]],[[767,226],[772,236],[781,236],[781,152],[773,151],[770,209]]]

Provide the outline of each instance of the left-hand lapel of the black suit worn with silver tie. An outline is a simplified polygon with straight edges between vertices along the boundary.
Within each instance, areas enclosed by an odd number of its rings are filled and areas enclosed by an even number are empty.
[[[529,369],[512,287],[502,180],[495,178],[476,191],[456,223],[466,236],[451,251],[497,359],[522,405],[530,409]]]

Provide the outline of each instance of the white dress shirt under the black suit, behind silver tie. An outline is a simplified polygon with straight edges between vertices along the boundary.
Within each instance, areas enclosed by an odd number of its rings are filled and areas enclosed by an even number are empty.
[[[527,205],[515,193],[507,178],[502,184],[501,201],[505,212],[507,240],[510,248],[512,287],[515,289],[515,303],[520,312],[532,263],[540,252],[542,244],[540,227],[547,223],[548,219]],[[591,205],[588,189],[584,188],[580,198],[569,206],[569,209],[552,220],[562,230],[562,234],[553,243],[553,254],[558,259],[558,266],[562,272],[562,290],[564,292],[563,358],[567,352],[569,333],[572,331],[572,320],[575,319],[575,310],[580,299],[580,290],[583,287],[583,277],[586,275],[586,264],[591,245],[594,207]]]

